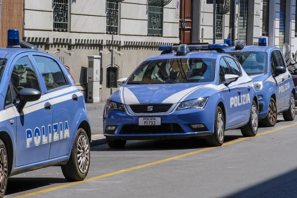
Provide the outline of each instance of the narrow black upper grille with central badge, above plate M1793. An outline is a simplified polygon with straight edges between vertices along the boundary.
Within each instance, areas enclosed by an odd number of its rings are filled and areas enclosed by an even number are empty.
[[[134,113],[163,113],[171,106],[172,104],[133,104],[130,108]]]

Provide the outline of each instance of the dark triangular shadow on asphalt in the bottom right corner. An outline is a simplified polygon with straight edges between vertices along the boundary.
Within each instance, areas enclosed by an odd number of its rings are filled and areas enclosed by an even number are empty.
[[[296,198],[297,169],[222,198]]]

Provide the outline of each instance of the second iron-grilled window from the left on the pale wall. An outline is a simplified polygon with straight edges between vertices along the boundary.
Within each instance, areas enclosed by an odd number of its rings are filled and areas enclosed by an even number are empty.
[[[118,34],[119,2],[106,1],[106,34]]]

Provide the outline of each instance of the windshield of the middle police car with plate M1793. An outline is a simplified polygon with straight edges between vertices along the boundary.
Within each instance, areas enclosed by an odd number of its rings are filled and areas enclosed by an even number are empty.
[[[172,58],[145,61],[127,84],[211,82],[215,75],[214,58]]]

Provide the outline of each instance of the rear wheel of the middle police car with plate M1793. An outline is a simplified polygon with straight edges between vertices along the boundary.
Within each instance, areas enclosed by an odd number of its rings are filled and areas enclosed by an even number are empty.
[[[251,103],[251,110],[249,115],[249,121],[247,125],[240,128],[244,137],[253,137],[258,132],[258,107],[254,100]]]

